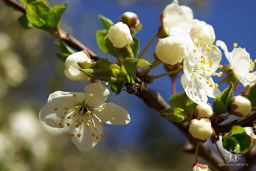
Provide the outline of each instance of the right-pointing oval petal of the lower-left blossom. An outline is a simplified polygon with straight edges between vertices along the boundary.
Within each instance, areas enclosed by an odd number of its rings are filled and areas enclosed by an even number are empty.
[[[130,115],[121,106],[114,103],[102,104],[104,110],[93,110],[93,113],[107,124],[123,125],[130,122]]]

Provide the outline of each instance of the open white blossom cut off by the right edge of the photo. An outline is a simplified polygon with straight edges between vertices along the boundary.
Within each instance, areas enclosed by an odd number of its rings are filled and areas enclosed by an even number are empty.
[[[256,72],[249,73],[253,71],[254,63],[250,59],[250,54],[242,48],[236,48],[237,44],[234,43],[234,49],[232,52],[228,52],[228,48],[223,41],[217,40],[216,45],[219,46],[228,59],[231,69],[238,76],[238,80],[244,85],[248,85],[252,81],[256,80]]]

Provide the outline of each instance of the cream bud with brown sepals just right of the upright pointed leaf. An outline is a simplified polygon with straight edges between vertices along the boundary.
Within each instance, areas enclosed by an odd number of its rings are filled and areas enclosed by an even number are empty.
[[[252,111],[251,101],[244,96],[234,96],[228,106],[228,113],[246,117]]]

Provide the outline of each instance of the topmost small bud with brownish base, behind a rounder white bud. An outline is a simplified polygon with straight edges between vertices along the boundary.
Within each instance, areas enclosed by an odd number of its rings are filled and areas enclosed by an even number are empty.
[[[137,14],[135,14],[134,12],[125,12],[119,18],[119,22],[127,24],[132,34],[135,33],[136,30],[140,29],[141,27],[140,20],[138,19]]]

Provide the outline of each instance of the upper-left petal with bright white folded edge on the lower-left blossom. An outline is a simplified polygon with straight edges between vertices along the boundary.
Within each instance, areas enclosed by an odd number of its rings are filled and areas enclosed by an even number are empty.
[[[48,102],[54,106],[74,106],[84,101],[83,92],[56,91],[49,95]]]

